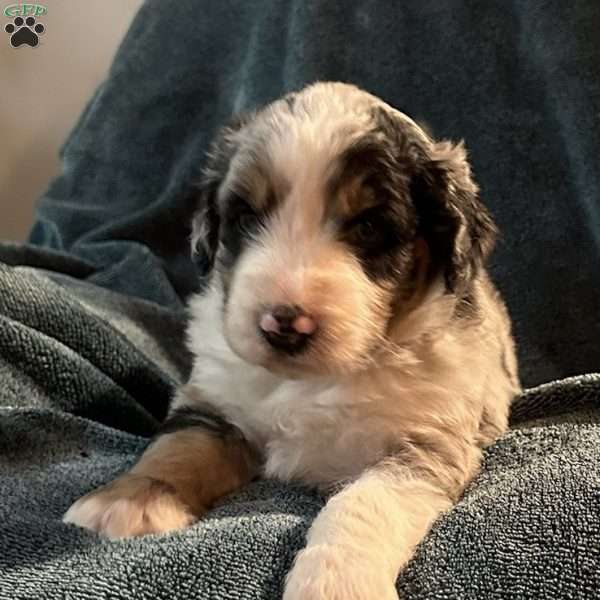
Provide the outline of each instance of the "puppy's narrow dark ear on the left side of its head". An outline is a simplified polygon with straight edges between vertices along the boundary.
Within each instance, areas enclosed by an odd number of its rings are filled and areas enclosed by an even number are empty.
[[[250,118],[250,115],[235,116],[218,132],[207,155],[191,236],[192,258],[201,276],[210,273],[215,263],[220,227],[217,194],[237,148],[236,134]]]

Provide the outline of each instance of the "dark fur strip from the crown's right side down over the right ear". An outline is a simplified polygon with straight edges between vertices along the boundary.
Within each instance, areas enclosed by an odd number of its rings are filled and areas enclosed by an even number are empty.
[[[416,236],[425,240],[430,277],[442,273],[448,291],[463,294],[491,252],[494,223],[481,202],[462,143],[433,142],[401,115],[374,108],[377,131],[397,172],[394,185],[406,186],[416,212]]]

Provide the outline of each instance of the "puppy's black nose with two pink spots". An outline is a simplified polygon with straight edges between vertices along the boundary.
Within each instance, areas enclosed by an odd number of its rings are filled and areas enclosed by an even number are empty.
[[[258,323],[273,348],[287,354],[300,352],[315,332],[315,320],[296,306],[280,304],[266,310]]]

